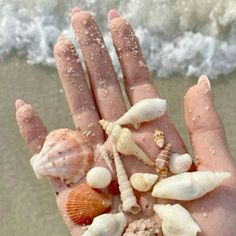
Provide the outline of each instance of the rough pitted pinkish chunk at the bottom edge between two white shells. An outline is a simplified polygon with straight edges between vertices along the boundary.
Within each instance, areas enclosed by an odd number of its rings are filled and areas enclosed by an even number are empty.
[[[159,235],[155,221],[150,219],[135,220],[128,225],[123,236],[154,236]]]

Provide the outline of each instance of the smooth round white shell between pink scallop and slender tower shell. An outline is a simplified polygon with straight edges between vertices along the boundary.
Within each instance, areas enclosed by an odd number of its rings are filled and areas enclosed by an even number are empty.
[[[91,188],[106,188],[111,182],[111,173],[104,167],[94,167],[87,173],[86,181]]]

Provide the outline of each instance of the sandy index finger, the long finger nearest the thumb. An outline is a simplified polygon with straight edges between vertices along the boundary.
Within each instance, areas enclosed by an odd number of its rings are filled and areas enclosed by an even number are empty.
[[[133,29],[115,10],[109,11],[108,20],[131,104],[144,98],[157,97],[157,91]]]

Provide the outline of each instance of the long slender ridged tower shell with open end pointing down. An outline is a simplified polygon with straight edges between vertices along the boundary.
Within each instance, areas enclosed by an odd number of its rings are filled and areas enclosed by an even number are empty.
[[[137,214],[141,211],[141,207],[138,205],[134,196],[134,192],[130,186],[130,182],[125,172],[125,168],[115,146],[113,146],[113,156],[115,160],[116,174],[123,211]]]

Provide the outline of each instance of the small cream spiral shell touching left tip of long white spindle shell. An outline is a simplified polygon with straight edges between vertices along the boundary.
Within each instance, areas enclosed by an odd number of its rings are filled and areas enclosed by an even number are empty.
[[[129,181],[131,186],[140,192],[147,192],[152,188],[158,176],[149,173],[134,173]]]

